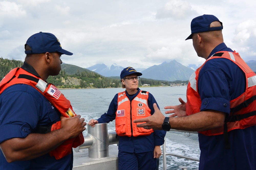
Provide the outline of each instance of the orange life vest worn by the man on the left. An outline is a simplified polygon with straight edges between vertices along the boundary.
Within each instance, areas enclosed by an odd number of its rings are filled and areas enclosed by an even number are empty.
[[[27,84],[34,87],[44,95],[50,103],[58,109],[64,117],[76,116],[70,101],[53,84],[46,83],[40,77],[35,76],[22,68],[11,70],[0,82],[0,94],[9,86],[14,84]],[[60,121],[51,126],[51,131],[60,129]],[[72,147],[76,148],[84,142],[83,134],[80,133],[76,138],[71,138],[63,142],[59,147],[49,152],[56,159],[61,159],[72,152]]]

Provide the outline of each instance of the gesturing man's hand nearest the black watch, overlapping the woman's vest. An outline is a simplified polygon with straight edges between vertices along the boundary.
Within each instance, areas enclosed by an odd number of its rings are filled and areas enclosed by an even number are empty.
[[[161,130],[165,116],[158,109],[156,103],[153,104],[155,112],[153,115],[146,118],[134,120],[133,123],[146,122],[143,124],[137,124],[137,127],[144,127],[145,129]]]

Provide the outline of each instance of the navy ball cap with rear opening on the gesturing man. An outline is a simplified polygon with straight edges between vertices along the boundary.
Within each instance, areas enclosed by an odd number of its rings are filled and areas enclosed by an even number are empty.
[[[192,39],[192,34],[199,33],[199,32],[206,32],[212,30],[222,30],[223,25],[221,23],[221,27],[211,27],[210,24],[214,21],[219,21],[217,17],[214,15],[201,15],[199,17],[194,18],[191,21],[191,34],[187,37],[186,40]]]

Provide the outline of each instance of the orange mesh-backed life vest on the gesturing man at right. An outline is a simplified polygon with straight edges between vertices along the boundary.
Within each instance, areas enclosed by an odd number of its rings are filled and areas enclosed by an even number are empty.
[[[231,60],[241,68],[246,76],[246,90],[238,98],[230,101],[230,114],[229,117],[225,120],[224,125],[221,128],[199,132],[207,136],[220,135],[224,133],[225,136],[225,132],[227,133],[230,130],[244,129],[256,125],[256,101],[254,101],[256,99],[256,74],[235,51],[234,53],[220,51],[212,55],[205,62],[215,58],[226,58]],[[197,82],[199,72],[204,64],[199,67],[189,79],[186,103],[187,115],[200,112],[201,99],[200,95],[198,94]]]

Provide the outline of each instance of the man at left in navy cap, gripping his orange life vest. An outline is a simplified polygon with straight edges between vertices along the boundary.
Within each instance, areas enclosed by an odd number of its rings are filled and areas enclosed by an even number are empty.
[[[24,65],[0,83],[0,169],[72,169],[72,147],[84,141],[84,118],[52,84],[62,54],[51,33],[36,33],[25,44]],[[81,118],[81,119],[80,119]]]

